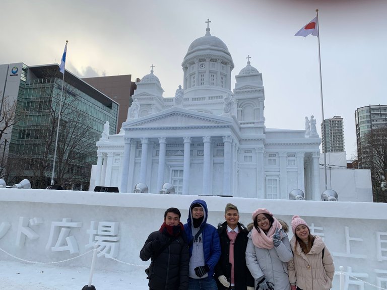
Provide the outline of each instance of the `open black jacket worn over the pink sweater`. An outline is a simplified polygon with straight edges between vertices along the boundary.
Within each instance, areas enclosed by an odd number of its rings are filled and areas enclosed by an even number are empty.
[[[234,243],[234,278],[235,278],[235,290],[246,290],[246,286],[254,286],[254,279],[252,278],[250,271],[246,265],[246,246],[247,246],[247,234],[248,231],[240,223],[238,223],[238,235],[235,238]],[[222,255],[215,268],[215,277],[218,284],[218,289],[225,288],[218,280],[218,277],[224,275],[226,278],[231,277],[231,264],[229,262],[230,253],[230,239],[227,235],[227,222],[218,226],[218,233],[220,238],[220,245],[222,249]]]

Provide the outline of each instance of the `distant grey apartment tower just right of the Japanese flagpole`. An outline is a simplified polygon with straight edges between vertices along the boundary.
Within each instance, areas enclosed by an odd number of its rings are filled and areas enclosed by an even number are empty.
[[[323,153],[344,152],[343,118],[341,116],[334,116],[321,122],[321,136]]]

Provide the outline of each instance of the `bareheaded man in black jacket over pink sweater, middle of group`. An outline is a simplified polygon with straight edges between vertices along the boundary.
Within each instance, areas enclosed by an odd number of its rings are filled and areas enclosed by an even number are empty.
[[[215,268],[218,289],[254,290],[254,279],[246,266],[248,231],[239,223],[238,208],[228,203],[224,218],[218,226],[222,255]]]

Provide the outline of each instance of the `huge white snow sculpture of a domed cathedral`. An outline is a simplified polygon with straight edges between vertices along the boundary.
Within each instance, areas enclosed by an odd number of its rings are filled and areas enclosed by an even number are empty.
[[[183,87],[164,98],[151,73],[137,83],[134,105],[119,134],[97,142],[90,188],[134,192],[288,199],[301,189],[320,200],[318,136],[265,127],[262,74],[250,61],[235,77],[226,44],[210,34],[194,40],[183,59]],[[284,120],[285,121],[285,120]]]

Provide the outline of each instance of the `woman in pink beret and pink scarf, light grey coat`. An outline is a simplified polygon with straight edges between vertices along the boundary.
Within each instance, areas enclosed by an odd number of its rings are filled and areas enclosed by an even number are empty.
[[[252,221],[246,264],[255,280],[255,290],[290,290],[286,263],[293,254],[282,225],[266,208],[256,209]]]

